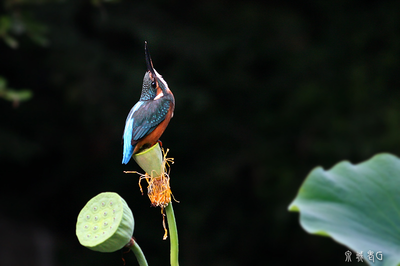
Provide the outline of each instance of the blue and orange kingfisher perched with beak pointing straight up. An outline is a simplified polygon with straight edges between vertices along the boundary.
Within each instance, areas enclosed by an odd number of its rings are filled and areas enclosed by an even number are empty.
[[[159,141],[175,107],[172,92],[162,76],[153,68],[146,42],[144,52],[147,72],[144,74],[140,99],[130,109],[125,121],[122,164],[127,164],[133,154]]]

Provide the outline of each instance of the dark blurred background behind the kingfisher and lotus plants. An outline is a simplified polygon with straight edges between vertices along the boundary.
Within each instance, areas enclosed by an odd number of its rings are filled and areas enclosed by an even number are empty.
[[[0,43],[0,75],[33,93],[0,99],[1,266],[122,265],[75,236],[106,191],[131,208],[148,264],[169,265],[160,209],[121,164],[145,40],[175,97],[161,141],[180,264],[344,264],[347,248],[287,207],[315,166],[400,154],[399,1],[19,2],[0,14],[44,26],[48,43]]]

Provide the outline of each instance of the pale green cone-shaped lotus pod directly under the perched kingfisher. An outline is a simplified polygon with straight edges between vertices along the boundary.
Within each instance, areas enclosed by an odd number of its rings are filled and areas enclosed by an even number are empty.
[[[153,177],[161,176],[163,156],[158,142],[150,148],[132,155],[132,157],[150,177],[151,174]]]

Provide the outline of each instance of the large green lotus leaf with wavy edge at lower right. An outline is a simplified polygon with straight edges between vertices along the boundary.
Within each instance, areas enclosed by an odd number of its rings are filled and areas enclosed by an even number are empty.
[[[289,210],[300,213],[306,232],[351,249],[353,260],[362,251],[363,261],[372,264],[367,259],[372,251],[382,254],[381,261],[374,256],[374,264],[400,265],[400,160],[393,155],[313,169]]]

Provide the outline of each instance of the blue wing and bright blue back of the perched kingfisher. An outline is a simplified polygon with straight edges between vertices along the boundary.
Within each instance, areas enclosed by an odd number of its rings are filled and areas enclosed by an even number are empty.
[[[168,113],[170,101],[157,100],[138,101],[130,110],[123,131],[123,158],[127,164],[132,156],[136,143],[150,134]]]

